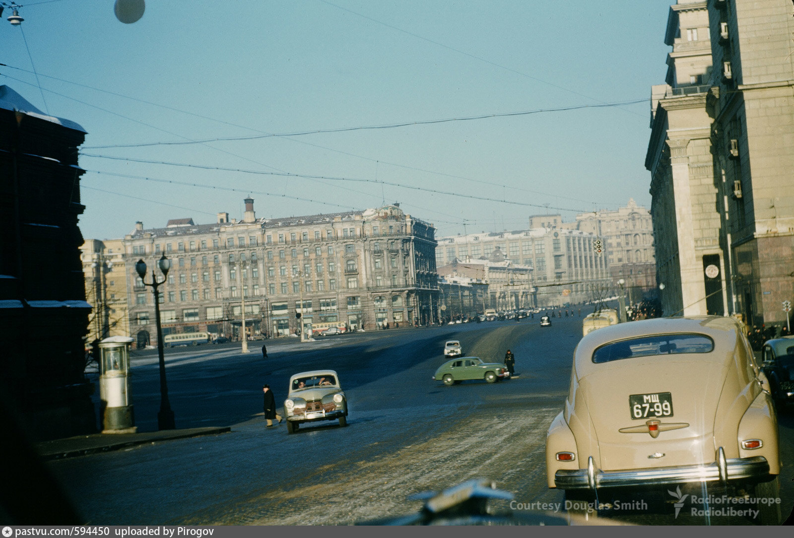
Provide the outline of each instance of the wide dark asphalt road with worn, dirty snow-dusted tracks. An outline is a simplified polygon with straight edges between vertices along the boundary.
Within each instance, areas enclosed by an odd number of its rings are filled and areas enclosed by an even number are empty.
[[[580,318],[555,321],[550,329],[504,321],[306,344],[268,341],[267,361],[258,347],[241,355],[239,344],[170,350],[168,388],[177,427],[232,425],[231,433],[50,466],[79,513],[102,525],[346,525],[414,512],[421,502],[407,501],[408,495],[475,477],[495,480],[522,503],[563,503],[561,492],[545,486],[545,432],[565,400]],[[520,375],[492,385],[431,381],[450,338],[461,340],[464,354],[487,359],[501,359],[511,348]],[[318,367],[339,372],[349,425],[315,423],[294,435],[283,424],[264,428],[257,416],[261,383],[283,400],[291,374]],[[137,356],[133,372],[137,425],[154,429],[156,355]],[[788,439],[784,450],[791,452],[792,424],[783,423],[781,445]],[[792,461],[794,455],[783,456]],[[790,481],[781,480],[784,513],[794,497]],[[506,501],[501,508],[507,509]],[[620,519],[703,523],[673,519],[668,508],[662,503],[658,513]]]

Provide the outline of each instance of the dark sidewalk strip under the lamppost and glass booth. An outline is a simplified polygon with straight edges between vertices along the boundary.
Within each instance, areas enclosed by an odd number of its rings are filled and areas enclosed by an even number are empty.
[[[219,433],[231,432],[232,428],[223,426],[218,428],[186,428],[167,429],[159,432],[141,433],[92,433],[87,436],[67,437],[67,439],[54,439],[41,441],[35,444],[37,452],[42,459],[72,458],[77,455],[110,452],[121,448],[132,447],[137,444],[156,443],[186,437],[209,436]]]

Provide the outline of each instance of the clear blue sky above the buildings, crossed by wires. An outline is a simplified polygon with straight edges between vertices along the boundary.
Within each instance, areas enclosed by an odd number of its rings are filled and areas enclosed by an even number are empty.
[[[268,218],[400,202],[440,236],[650,206],[670,0],[150,1],[131,25],[113,0],[21,3],[0,84],[88,132],[86,238],[249,194]],[[457,121],[393,126],[436,120]],[[355,127],[382,128],[312,133]]]

